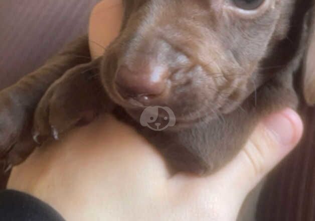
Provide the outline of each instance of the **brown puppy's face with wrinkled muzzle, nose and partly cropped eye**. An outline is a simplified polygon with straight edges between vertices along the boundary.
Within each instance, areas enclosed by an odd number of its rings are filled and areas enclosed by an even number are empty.
[[[133,2],[137,7],[107,49],[104,87],[138,121],[147,106],[171,108],[175,127],[233,111],[264,81],[269,67],[263,61],[285,38],[295,4]]]

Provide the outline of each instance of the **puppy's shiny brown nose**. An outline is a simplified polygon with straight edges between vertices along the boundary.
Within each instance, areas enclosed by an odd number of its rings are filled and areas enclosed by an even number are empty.
[[[115,83],[118,93],[123,98],[132,97],[140,101],[144,96],[147,99],[147,96],[162,94],[168,77],[168,70],[160,66],[137,70],[121,66],[117,71]]]

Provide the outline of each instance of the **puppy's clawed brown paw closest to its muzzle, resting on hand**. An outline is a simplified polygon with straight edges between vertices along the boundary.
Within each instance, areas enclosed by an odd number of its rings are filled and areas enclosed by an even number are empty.
[[[50,86],[37,106],[34,141],[40,144],[49,138],[59,140],[73,127],[90,123],[102,111],[105,100],[98,75],[89,65],[69,70]]]

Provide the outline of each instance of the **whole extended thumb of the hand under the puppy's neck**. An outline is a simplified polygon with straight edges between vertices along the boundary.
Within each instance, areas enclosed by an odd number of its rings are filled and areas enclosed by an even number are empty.
[[[298,143],[303,125],[292,109],[273,114],[255,129],[240,153],[220,172],[247,194]]]

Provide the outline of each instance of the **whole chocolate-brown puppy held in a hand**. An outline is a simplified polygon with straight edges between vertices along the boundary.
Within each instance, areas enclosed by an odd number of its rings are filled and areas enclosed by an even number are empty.
[[[239,151],[260,118],[297,107],[302,77],[307,102],[315,103],[315,76],[304,65],[313,4],[124,1],[121,33],[102,58],[83,64],[84,37],[0,93],[0,157],[20,163],[34,147],[32,127],[37,142],[57,139],[112,112],[173,168],[213,172]],[[172,127],[156,131],[151,123]]]

